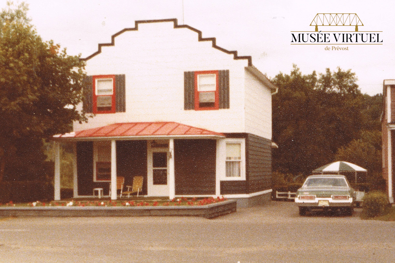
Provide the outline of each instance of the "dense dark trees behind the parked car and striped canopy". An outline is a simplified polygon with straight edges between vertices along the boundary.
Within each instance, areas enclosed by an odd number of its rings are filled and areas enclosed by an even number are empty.
[[[273,96],[273,141],[278,149],[273,151],[274,170],[308,174],[336,158],[354,160],[355,156],[348,155],[352,150],[346,148],[351,142],[356,147],[358,141],[353,140],[381,140],[378,132],[361,132],[380,129],[381,97],[361,94],[356,80],[355,73],[339,67],[317,76],[315,71],[302,75],[294,65],[290,75],[275,76],[278,93]],[[375,164],[369,168],[376,169],[379,160],[372,162]]]

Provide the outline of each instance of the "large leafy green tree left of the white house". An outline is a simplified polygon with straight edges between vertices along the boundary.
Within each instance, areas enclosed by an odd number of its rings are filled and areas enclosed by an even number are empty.
[[[0,180],[40,174],[43,139],[86,121],[75,108],[85,63],[43,41],[27,11],[8,3],[0,13]]]

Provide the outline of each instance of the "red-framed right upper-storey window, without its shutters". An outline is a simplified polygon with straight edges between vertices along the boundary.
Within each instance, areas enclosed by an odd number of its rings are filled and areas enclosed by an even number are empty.
[[[195,72],[195,110],[218,110],[218,71]]]

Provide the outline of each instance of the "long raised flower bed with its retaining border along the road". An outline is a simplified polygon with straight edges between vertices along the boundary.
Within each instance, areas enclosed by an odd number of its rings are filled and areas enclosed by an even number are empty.
[[[0,206],[0,216],[202,216],[215,218],[236,212],[236,200],[52,201]]]

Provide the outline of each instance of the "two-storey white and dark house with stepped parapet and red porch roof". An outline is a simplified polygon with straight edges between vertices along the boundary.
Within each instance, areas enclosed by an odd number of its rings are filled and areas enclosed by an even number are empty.
[[[226,196],[239,205],[271,192],[271,96],[250,56],[177,19],[136,21],[85,58],[85,101],[96,114],[57,135],[75,143],[74,197],[116,199],[116,178],[143,176],[145,196]],[[60,199],[59,158],[55,199]]]

